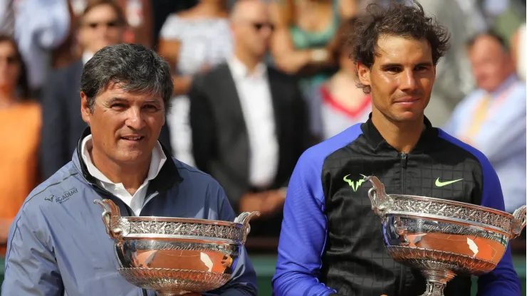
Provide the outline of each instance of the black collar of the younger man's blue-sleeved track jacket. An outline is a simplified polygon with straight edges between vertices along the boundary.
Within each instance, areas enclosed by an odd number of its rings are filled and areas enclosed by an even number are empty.
[[[424,152],[424,150],[428,149],[429,144],[432,142],[431,140],[437,137],[439,134],[437,128],[432,127],[432,122],[430,122],[426,116],[424,117],[423,123],[424,130],[421,134],[421,137],[419,137],[419,141],[415,145],[414,149],[412,149],[412,153]],[[370,113],[367,122],[360,126],[360,129],[362,129],[362,133],[365,135],[367,142],[375,149],[375,151],[382,149],[383,147],[395,149],[386,142],[377,127],[373,125],[372,113]]]

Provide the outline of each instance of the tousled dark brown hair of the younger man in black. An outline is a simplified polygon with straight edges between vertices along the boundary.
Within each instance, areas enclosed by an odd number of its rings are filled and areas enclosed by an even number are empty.
[[[426,40],[432,48],[432,61],[437,65],[439,58],[449,49],[449,33],[435,18],[427,16],[417,1],[413,4],[392,2],[387,7],[377,4],[367,6],[364,14],[355,22],[349,43],[351,58],[371,68],[377,56],[377,41],[380,36],[402,36]],[[359,85],[365,93],[370,88]]]

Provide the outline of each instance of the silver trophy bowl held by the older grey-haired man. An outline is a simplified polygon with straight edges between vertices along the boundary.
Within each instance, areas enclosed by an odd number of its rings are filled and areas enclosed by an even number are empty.
[[[113,201],[93,202],[103,207],[119,274],[132,285],[162,296],[202,293],[225,285],[251,231],[249,220],[260,215],[244,212],[234,222],[122,217]]]

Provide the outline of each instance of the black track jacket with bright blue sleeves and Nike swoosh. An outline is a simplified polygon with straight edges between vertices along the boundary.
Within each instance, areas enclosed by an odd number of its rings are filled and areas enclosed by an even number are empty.
[[[276,296],[421,295],[424,277],[388,255],[381,221],[371,208],[369,182],[387,194],[409,194],[479,204],[503,211],[498,176],[484,154],[441,129],[426,128],[412,152],[387,144],[371,119],[308,149],[288,186]],[[520,295],[507,249],[497,268],[479,277],[480,296]],[[471,294],[470,277],[456,276],[445,295]]]

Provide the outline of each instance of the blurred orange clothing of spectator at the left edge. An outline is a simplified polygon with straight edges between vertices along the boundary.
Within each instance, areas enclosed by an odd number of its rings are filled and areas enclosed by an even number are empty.
[[[13,219],[38,182],[41,107],[23,102],[0,110],[0,218]],[[0,255],[5,254],[0,248]]]

